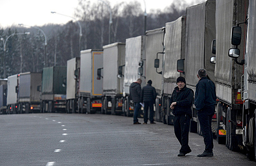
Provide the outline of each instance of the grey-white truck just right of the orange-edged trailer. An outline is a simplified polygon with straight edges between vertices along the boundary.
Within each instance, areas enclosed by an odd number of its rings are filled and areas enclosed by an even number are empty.
[[[110,112],[112,115],[122,113],[124,79],[118,77],[118,69],[119,66],[124,65],[125,43],[117,42],[103,46],[102,113]]]

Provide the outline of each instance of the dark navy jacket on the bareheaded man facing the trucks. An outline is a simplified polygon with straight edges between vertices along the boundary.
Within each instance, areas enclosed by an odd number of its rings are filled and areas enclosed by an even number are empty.
[[[216,89],[214,83],[207,77],[201,78],[196,86],[195,106],[197,111],[216,104]]]

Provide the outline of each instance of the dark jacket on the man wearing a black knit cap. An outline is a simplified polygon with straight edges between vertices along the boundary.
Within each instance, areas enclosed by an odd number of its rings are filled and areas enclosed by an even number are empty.
[[[176,105],[172,111],[174,115],[187,114],[192,117],[192,104],[193,104],[194,91],[190,88],[187,88],[185,85],[181,90],[178,87],[175,87],[172,96],[169,101],[169,107],[173,102],[176,102]]]

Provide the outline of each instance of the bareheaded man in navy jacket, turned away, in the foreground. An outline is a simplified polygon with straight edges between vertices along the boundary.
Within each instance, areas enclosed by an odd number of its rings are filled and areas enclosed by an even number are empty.
[[[214,83],[207,78],[205,69],[197,71],[197,78],[199,81],[195,92],[195,106],[205,142],[205,151],[197,157],[212,157],[213,134],[211,125],[217,99],[216,90]]]

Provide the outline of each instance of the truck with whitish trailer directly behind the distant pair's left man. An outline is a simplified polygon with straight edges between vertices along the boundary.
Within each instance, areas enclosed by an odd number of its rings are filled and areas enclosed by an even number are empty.
[[[142,79],[141,86],[145,86],[145,69],[146,66],[146,36],[131,37],[126,39],[125,45],[125,66],[119,66],[118,75],[123,77],[123,98],[122,111],[125,116],[132,116],[134,111],[133,101],[129,97],[130,84]],[[143,65],[145,64],[145,65]],[[140,65],[140,75],[138,66]],[[124,70],[123,70],[124,69]],[[124,72],[123,72],[124,71]],[[140,113],[141,114],[141,113]]]

